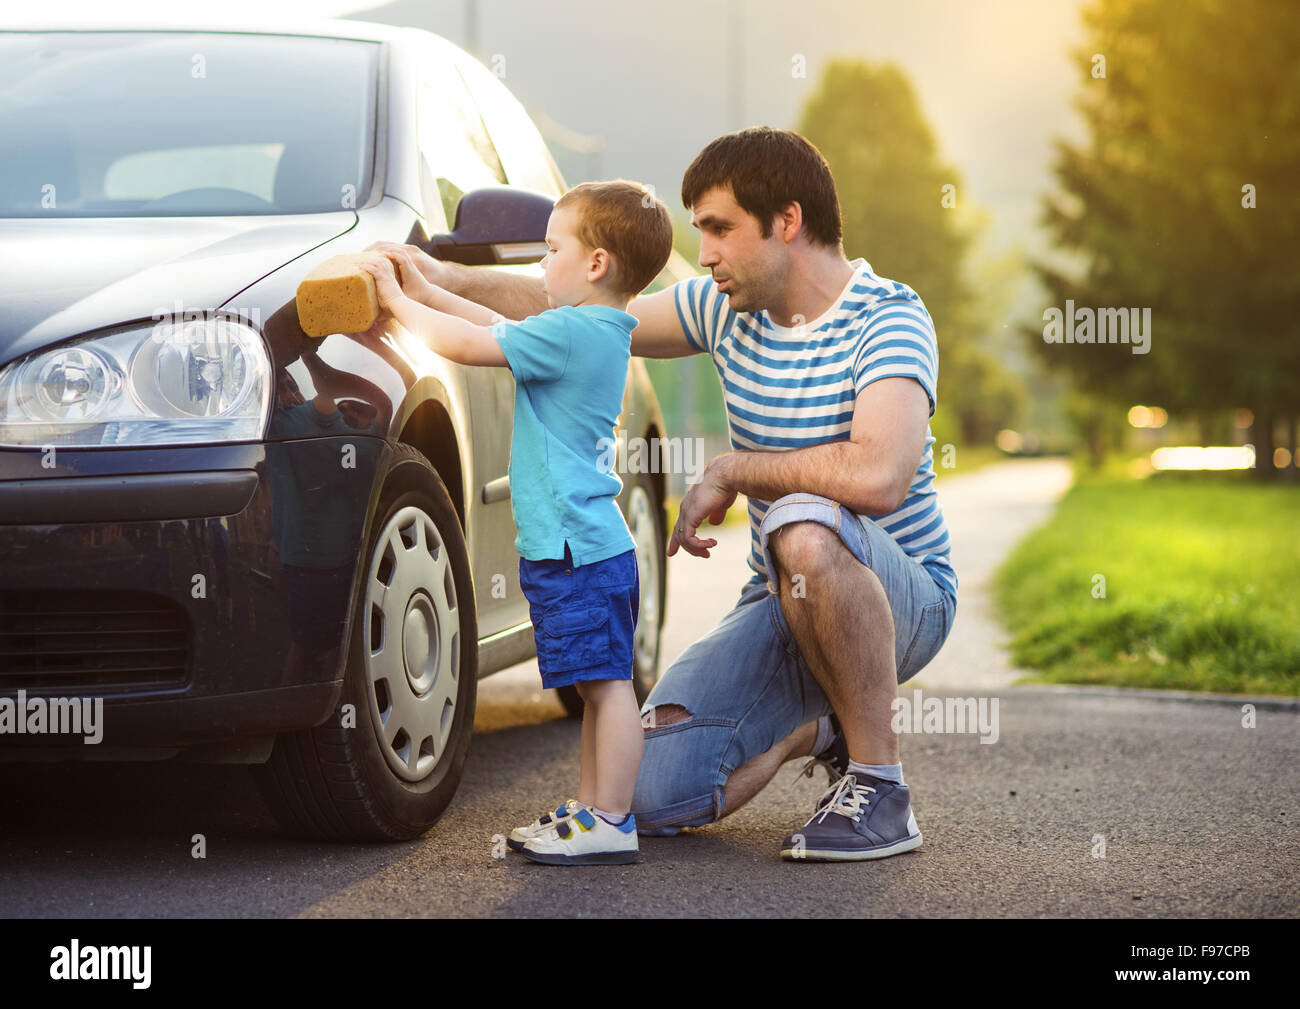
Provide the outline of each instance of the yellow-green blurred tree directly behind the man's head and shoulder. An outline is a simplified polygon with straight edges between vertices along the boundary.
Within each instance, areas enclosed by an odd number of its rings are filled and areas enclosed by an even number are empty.
[[[920,295],[940,347],[940,399],[962,439],[989,443],[1023,400],[1020,382],[983,346],[989,304],[968,277],[978,220],[945,164],[906,75],[832,61],[797,130],[826,157],[844,220],[844,250]]]

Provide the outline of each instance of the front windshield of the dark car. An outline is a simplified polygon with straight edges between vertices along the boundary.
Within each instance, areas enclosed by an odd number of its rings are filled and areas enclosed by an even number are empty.
[[[360,207],[378,49],[296,35],[0,33],[0,217]]]

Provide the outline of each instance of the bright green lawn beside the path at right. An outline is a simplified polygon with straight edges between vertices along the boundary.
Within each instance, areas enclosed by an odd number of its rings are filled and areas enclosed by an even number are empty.
[[[1239,475],[1080,473],[998,571],[1013,659],[1050,683],[1297,696],[1297,519],[1300,488]]]

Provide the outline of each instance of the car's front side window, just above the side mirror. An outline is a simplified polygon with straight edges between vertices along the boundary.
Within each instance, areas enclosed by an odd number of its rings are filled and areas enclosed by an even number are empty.
[[[469,90],[445,61],[421,75],[416,121],[420,196],[426,212],[441,205],[451,226],[460,198],[484,186],[504,185],[506,172]]]

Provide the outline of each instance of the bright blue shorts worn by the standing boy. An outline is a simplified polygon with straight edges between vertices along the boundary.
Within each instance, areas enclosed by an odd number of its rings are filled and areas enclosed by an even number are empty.
[[[542,687],[580,680],[630,680],[632,638],[641,609],[637,551],[593,564],[519,560],[519,584],[528,599]]]

